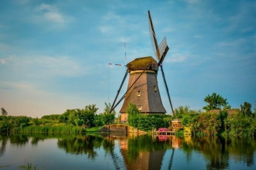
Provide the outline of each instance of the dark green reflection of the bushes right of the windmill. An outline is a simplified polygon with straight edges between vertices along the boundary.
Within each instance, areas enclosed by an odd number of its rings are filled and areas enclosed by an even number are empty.
[[[204,137],[188,138],[184,140],[182,149],[187,156],[191,156],[192,150],[200,151],[208,160],[206,168],[227,169],[230,156],[237,156],[238,161],[243,161],[247,166],[253,166],[253,152],[256,150],[255,139]]]

